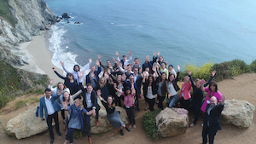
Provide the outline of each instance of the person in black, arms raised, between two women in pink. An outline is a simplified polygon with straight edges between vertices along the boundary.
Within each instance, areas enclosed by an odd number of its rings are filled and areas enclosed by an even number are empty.
[[[214,70],[212,72],[212,76],[211,78],[208,80],[207,84],[204,84],[204,87],[206,87],[208,84],[210,84],[210,82],[212,82],[212,78],[214,77],[216,71]],[[201,104],[202,104],[202,100],[203,100],[203,91],[201,91],[201,80],[199,78],[197,78],[195,80],[195,84],[193,82],[193,78],[191,76],[192,72],[189,70],[188,71],[189,74],[189,78],[192,84],[192,88],[193,88],[193,94],[192,94],[192,107],[193,107],[193,111],[194,111],[194,119],[192,119],[193,124],[190,124],[190,127],[195,126],[198,117],[199,117],[199,113],[200,113],[200,108],[201,108]]]

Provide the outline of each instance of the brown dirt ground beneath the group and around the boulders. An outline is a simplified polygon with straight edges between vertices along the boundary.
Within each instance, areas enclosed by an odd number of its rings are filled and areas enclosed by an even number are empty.
[[[218,82],[219,91],[226,96],[227,100],[236,99],[236,100],[245,100],[256,106],[256,73],[246,73],[240,76],[235,77],[234,79],[226,79],[222,82]],[[36,95],[41,97],[43,95]],[[24,98],[24,97],[23,97]],[[18,99],[22,99],[18,98]],[[15,101],[10,101],[8,106],[3,107],[2,112],[0,113],[0,143],[1,144],[44,144],[49,143],[49,134],[48,131],[45,131],[39,135],[33,135],[32,137],[16,140],[15,137],[9,137],[4,134],[4,126],[7,124],[9,119],[14,118],[20,112],[26,111],[28,107],[37,106],[38,103],[32,104],[27,107],[21,107],[18,110],[15,110]],[[140,108],[141,111],[136,111],[136,123],[137,128],[132,129],[131,132],[127,132],[124,130],[125,135],[119,135],[119,130],[111,130],[108,133],[104,133],[101,135],[91,135],[91,139],[93,143],[101,144],[150,144],[150,143],[160,143],[160,144],[199,144],[201,143],[201,124],[203,120],[203,116],[201,116],[193,128],[188,128],[186,133],[182,135],[177,135],[174,137],[168,138],[160,138],[158,141],[152,141],[148,138],[145,130],[143,129],[143,114],[148,111],[144,111],[144,100],[140,100]],[[156,108],[156,106],[155,106]],[[254,111],[255,114],[256,111]],[[59,115],[60,116],[60,115]],[[193,112],[189,113],[189,121],[193,118]],[[61,119],[61,117],[59,118]],[[61,128],[61,136],[57,136],[55,133],[55,144],[61,144],[65,141],[65,135],[63,128],[62,120],[60,120],[60,128]],[[256,141],[256,120],[253,119],[253,124],[250,128],[241,129],[236,127],[235,125],[226,125],[222,124],[223,130],[219,130],[217,135],[215,136],[215,143],[218,144],[241,144],[241,143],[254,143]],[[55,132],[55,129],[54,129]],[[85,135],[85,133],[84,133]],[[254,142],[253,142],[254,141]],[[74,143],[88,143],[87,137],[84,136],[81,140],[74,140]]]

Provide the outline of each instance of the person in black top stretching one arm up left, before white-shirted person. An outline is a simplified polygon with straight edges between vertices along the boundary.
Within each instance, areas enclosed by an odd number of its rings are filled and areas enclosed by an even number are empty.
[[[79,84],[76,79],[73,79],[72,73],[67,73],[67,77],[65,78],[61,76],[60,73],[55,71],[55,67],[53,67],[53,70],[59,78],[64,79],[64,85],[66,85],[66,87],[70,90],[71,95],[79,91]]]

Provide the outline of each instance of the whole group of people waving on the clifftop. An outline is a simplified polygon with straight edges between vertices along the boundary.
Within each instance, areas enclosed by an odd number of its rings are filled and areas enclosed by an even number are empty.
[[[40,99],[40,117],[43,120],[44,108],[51,138],[50,143],[54,141],[51,126],[52,118],[55,119],[57,134],[61,135],[58,121],[59,111],[61,111],[61,117],[65,124],[64,130],[66,130],[64,144],[67,144],[68,140],[73,143],[73,131],[76,129],[83,131],[84,126],[88,141],[92,143],[90,138],[90,115],[96,118],[96,126],[100,124],[98,112],[101,107],[98,105],[97,98],[105,107],[109,122],[115,129],[120,129],[120,135],[124,135],[123,128],[129,132],[131,127],[136,129],[135,110],[140,111],[139,98],[145,100],[145,111],[148,108],[150,111],[154,111],[155,104],[157,104],[158,108],[163,109],[165,100],[166,107],[175,107],[178,99],[179,107],[189,110],[189,103],[192,99],[195,118],[192,119],[193,124],[189,126],[195,126],[200,110],[205,112],[202,132],[203,143],[207,143],[207,135],[209,135],[210,143],[213,143],[214,135],[216,135],[217,130],[221,129],[216,118],[219,117],[220,112],[223,110],[225,99],[224,95],[218,91],[217,84],[212,82],[216,71],[212,72],[207,84],[204,84],[204,79],[198,78],[194,84],[191,76],[192,72],[188,71],[189,76],[183,78],[183,84],[180,89],[177,85],[177,81],[180,78],[180,66],[177,66],[177,72],[172,65],[167,67],[169,61],[165,62],[163,56],[160,56],[160,52],[154,52],[152,60],[149,60],[147,55],[142,66],[141,60],[138,58],[135,58],[130,64],[132,60],[131,51],[129,51],[128,59],[126,55],[123,55],[122,60],[120,60],[118,52],[115,55],[116,59],[113,58],[114,65],[110,60],[107,60],[107,65],[104,65],[101,55],[98,55],[96,66],[91,65],[92,60],[89,59],[89,63],[82,69],[80,69],[79,65],[73,66],[73,71],[68,71],[64,62],[60,61],[63,70],[67,72],[66,78],[53,68],[55,74],[62,78],[64,83],[60,82],[56,88],[52,88],[54,82],[51,80],[49,88],[45,89],[44,97]],[[84,82],[84,72],[89,67],[90,72],[85,76]],[[103,74],[100,78],[101,72]],[[207,85],[209,85],[208,88]],[[190,95],[191,88],[193,88],[192,95]],[[178,95],[179,90],[180,93]],[[207,92],[207,97],[202,102],[204,92]],[[119,112],[115,110],[115,106],[125,108],[129,119],[128,126],[122,122]],[[213,113],[213,110],[216,112]],[[67,117],[65,117],[65,112]],[[218,126],[213,127],[212,125],[216,123],[218,123]]]

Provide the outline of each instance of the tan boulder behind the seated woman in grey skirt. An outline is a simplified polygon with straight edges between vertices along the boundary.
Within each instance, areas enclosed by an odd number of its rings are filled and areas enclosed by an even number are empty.
[[[99,99],[98,99],[98,104],[101,107],[101,109],[99,111],[100,124],[99,124],[99,126],[96,126],[96,118],[90,116],[90,133],[91,134],[99,134],[99,133],[107,132],[109,130],[113,130],[113,126],[108,121],[106,109],[102,105],[102,102]],[[128,124],[128,117],[125,112],[125,109],[122,107],[115,107],[115,110],[120,112],[120,117],[121,117],[122,121],[125,124]]]

